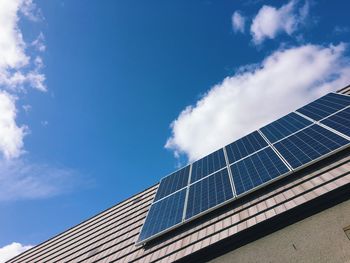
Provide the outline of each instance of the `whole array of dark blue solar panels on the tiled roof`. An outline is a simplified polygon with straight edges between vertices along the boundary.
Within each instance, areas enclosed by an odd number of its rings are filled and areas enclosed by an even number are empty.
[[[329,93],[164,177],[137,244],[350,145],[350,96]]]

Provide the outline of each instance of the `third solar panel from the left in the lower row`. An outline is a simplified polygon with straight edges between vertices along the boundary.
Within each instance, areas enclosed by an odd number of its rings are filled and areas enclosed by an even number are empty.
[[[270,148],[263,149],[231,165],[236,194],[258,187],[290,170]]]

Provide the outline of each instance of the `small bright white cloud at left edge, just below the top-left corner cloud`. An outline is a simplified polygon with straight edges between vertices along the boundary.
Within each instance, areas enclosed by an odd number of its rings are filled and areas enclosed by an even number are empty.
[[[0,90],[0,153],[6,159],[21,155],[27,130],[16,124],[15,97]]]

